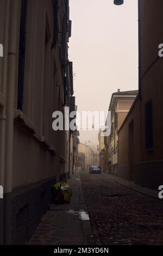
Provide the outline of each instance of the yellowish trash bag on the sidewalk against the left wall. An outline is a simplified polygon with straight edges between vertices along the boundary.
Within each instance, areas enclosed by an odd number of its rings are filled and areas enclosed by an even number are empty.
[[[70,203],[72,188],[67,182],[60,181],[52,186],[52,203]]]

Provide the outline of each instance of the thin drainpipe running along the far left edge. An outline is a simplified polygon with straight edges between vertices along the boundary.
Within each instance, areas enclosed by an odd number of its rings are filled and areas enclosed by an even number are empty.
[[[9,36],[9,0],[6,0],[6,15],[5,15],[5,38],[4,38],[4,71],[3,71],[3,87],[2,93],[3,95],[7,95],[7,54],[8,54],[8,36]],[[4,187],[4,173],[5,173],[5,125],[6,125],[6,106],[4,104],[1,111],[1,144],[0,144],[0,181],[1,185]],[[1,199],[2,200],[2,199]],[[3,229],[4,229],[4,212],[3,212],[3,201],[2,201],[2,215],[1,215],[1,223],[0,223],[0,245],[3,245]]]

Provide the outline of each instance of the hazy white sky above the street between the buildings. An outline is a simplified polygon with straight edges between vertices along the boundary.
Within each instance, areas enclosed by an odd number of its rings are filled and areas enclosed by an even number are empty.
[[[138,88],[137,0],[70,0],[74,95],[78,111],[107,111],[117,89]],[[79,131],[80,142],[98,144],[97,131]]]

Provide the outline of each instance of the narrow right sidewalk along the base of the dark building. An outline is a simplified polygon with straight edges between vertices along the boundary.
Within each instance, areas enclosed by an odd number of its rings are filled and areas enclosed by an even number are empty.
[[[146,187],[141,187],[139,185],[136,185],[134,183],[134,181],[124,180],[124,179],[118,178],[116,176],[113,176],[111,174],[107,174],[107,173],[103,173],[103,174],[108,176],[109,179],[114,180],[114,181],[122,184],[123,186],[126,186],[126,187],[130,188],[131,190],[135,190],[135,191],[138,191],[142,194],[146,194],[147,196],[151,196],[151,197],[154,197],[156,199],[159,199],[159,197],[158,197],[159,191],[151,190],[151,189],[146,188]]]

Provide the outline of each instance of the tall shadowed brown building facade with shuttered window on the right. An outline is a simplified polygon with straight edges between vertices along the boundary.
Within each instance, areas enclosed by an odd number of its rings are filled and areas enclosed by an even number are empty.
[[[140,1],[139,97],[118,132],[118,176],[154,190],[163,184],[162,8],[161,0]]]

